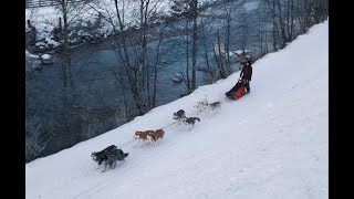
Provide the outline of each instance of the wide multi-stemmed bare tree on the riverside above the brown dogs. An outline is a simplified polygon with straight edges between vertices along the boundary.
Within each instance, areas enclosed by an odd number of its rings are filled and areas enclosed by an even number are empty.
[[[122,6],[121,3],[117,0],[114,1],[116,20],[107,20],[116,21],[112,25],[116,27],[117,42],[116,46],[112,46],[112,50],[116,52],[119,61],[115,69],[111,67],[111,71],[125,92],[125,102],[128,102],[132,96],[135,109],[138,111],[137,115],[142,115],[155,107],[156,104],[157,65],[159,63],[163,32],[150,30],[150,23],[156,17],[156,10],[160,2],[153,4],[149,0],[138,1],[137,30],[124,22],[124,4]],[[105,18],[108,19],[108,17]],[[152,52],[148,42],[152,40],[157,40],[158,42],[154,59],[148,55],[148,52]],[[154,80],[150,78],[153,74],[155,76]],[[128,103],[125,104],[129,106]]]

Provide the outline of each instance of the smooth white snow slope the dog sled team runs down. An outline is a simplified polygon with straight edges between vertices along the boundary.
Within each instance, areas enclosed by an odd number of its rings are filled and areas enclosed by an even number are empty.
[[[316,199],[329,197],[329,20],[253,64],[251,93],[225,98],[239,72],[144,116],[25,165],[31,199]],[[197,112],[207,98],[218,113]],[[170,125],[185,109],[201,121]],[[168,126],[170,125],[170,126]],[[165,129],[156,147],[136,130]],[[129,156],[101,172],[91,153]]]

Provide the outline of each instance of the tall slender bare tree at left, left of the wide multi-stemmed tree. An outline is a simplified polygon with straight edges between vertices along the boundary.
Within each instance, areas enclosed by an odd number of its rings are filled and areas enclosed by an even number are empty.
[[[70,3],[67,0],[58,0],[59,10],[62,13],[59,23],[60,48],[58,50],[63,82],[63,132],[71,135],[72,145],[83,138],[83,118],[81,105],[72,73],[72,61],[70,56],[70,32],[74,29],[75,20],[84,12],[87,2]],[[63,21],[61,21],[61,19]],[[62,25],[62,27],[61,27]]]

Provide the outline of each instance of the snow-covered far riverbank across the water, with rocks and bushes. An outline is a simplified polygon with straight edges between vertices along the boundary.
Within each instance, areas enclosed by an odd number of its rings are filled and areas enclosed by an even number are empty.
[[[200,0],[200,10],[212,4],[220,3],[218,0]],[[154,19],[148,22],[148,28],[162,23],[178,20],[173,17],[169,0],[152,0],[150,8],[154,8]],[[138,31],[138,9],[135,1],[118,1],[124,17],[125,31]],[[116,10],[113,1],[90,1],[70,3],[67,6],[67,36],[70,48],[79,48],[87,44],[102,43],[118,36],[115,18]],[[61,31],[63,30],[62,13],[59,6],[40,7],[25,9],[25,48],[33,54],[53,54],[60,48]]]

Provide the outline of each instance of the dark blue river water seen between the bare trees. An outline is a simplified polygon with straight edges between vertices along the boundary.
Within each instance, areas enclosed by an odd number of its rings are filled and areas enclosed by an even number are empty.
[[[253,2],[253,1],[251,1]],[[254,1],[258,2],[258,1]],[[260,7],[260,6],[259,6]],[[260,9],[260,8],[258,8]],[[261,10],[261,9],[260,9]],[[214,45],[217,43],[217,31],[225,39],[225,18],[222,17],[223,9],[221,6],[207,10],[205,15],[199,19],[199,23],[205,23],[205,29],[199,29],[197,66],[206,66],[205,49],[209,54],[210,63],[215,66]],[[247,50],[257,51],[258,36],[257,31],[259,24],[257,21],[261,17],[257,10],[246,12],[235,3],[235,10],[231,21],[231,38],[230,50]],[[177,31],[184,22],[178,21],[167,27],[160,24],[155,29],[165,27],[167,36],[162,42],[162,56],[158,65],[157,78],[157,96],[156,105],[164,105],[175,100],[178,100],[185,92],[184,83],[174,83],[171,77],[174,74],[184,72],[186,67],[186,50],[184,46],[184,32]],[[223,34],[223,35],[222,35]],[[244,36],[247,34],[247,36]],[[269,36],[271,38],[271,36]],[[114,77],[110,69],[118,65],[116,53],[110,49],[110,43],[114,40],[106,41],[101,44],[87,44],[71,50],[71,67],[77,97],[81,106],[86,111],[100,112],[107,115],[103,119],[111,118],[106,122],[102,132],[107,132],[122,124],[117,124],[114,119],[114,114],[117,109],[123,108],[122,91],[117,80]],[[246,43],[246,44],[244,44]],[[205,45],[206,44],[206,45]],[[157,41],[149,42],[149,60],[155,57]],[[240,69],[239,63],[232,65],[232,72]],[[59,111],[63,108],[63,83],[62,83],[61,65],[55,60],[54,64],[44,66],[41,71],[27,72],[27,103],[31,113],[41,115],[42,117],[55,119]],[[153,76],[152,76],[153,77]],[[205,85],[205,73],[197,71],[197,86]],[[43,155],[53,154],[60,149],[70,147],[75,143],[67,142],[71,135],[65,133],[56,134],[46,145]]]

